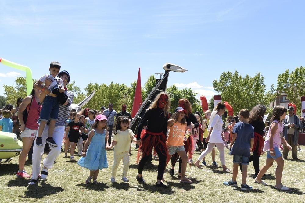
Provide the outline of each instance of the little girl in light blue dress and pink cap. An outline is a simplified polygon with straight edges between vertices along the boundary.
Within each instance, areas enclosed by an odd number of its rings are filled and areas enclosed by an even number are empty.
[[[85,143],[82,157],[77,162],[79,166],[90,170],[90,175],[86,180],[87,184],[91,183],[92,178],[93,183],[97,184],[98,182],[96,179],[99,175],[99,170],[108,168],[105,149],[105,142],[108,139],[107,118],[101,114],[97,115],[95,123],[92,125],[92,130],[90,131]],[[109,146],[108,142],[106,142],[106,146]]]

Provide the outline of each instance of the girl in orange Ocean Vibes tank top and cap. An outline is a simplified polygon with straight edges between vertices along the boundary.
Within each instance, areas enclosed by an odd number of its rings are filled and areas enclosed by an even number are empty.
[[[175,113],[167,121],[167,127],[170,129],[167,137],[166,145],[168,149],[167,162],[169,162],[171,156],[178,153],[182,159],[181,166],[181,183],[192,183],[185,177],[186,166],[188,162],[188,156],[184,148],[184,136],[186,132],[186,120],[185,120],[185,110],[182,107],[177,107]],[[165,167],[166,168],[166,167]],[[174,170],[173,167],[171,170]]]

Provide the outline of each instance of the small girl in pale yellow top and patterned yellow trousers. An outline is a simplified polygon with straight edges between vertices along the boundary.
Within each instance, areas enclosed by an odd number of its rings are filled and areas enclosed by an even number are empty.
[[[134,137],[134,133],[129,129],[129,119],[125,116],[120,116],[117,118],[115,124],[115,133],[113,135],[113,141],[110,146],[106,146],[106,150],[110,150],[114,147],[113,150],[113,166],[111,172],[111,183],[115,183],[115,177],[117,176],[117,167],[121,160],[123,159],[123,172],[122,179],[125,183],[129,182],[126,178],[128,168],[129,168],[129,148],[130,141],[137,142],[137,139]]]

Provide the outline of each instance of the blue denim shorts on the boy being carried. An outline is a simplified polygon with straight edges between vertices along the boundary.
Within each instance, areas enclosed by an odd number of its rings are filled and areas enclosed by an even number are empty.
[[[43,100],[40,118],[41,121],[57,120],[59,110],[58,97],[46,96]]]

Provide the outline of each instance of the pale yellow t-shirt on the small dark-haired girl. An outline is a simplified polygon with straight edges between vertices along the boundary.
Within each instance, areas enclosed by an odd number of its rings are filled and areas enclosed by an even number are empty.
[[[113,141],[116,141],[117,144],[114,145],[114,152],[126,152],[129,151],[132,137],[135,134],[132,130],[127,129],[125,131],[117,130],[117,134],[113,135]]]

